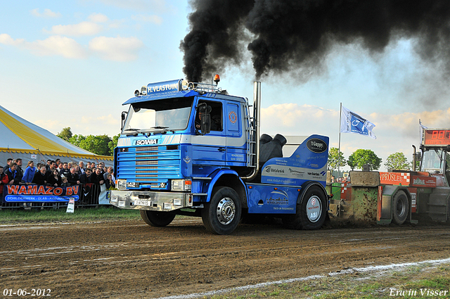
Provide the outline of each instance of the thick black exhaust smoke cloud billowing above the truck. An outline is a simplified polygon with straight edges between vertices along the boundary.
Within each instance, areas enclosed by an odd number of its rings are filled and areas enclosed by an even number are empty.
[[[194,0],[180,48],[189,80],[240,65],[246,49],[257,78],[320,65],[335,43],[382,52],[418,38],[421,58],[449,70],[450,0]],[[250,42],[248,42],[251,37]]]

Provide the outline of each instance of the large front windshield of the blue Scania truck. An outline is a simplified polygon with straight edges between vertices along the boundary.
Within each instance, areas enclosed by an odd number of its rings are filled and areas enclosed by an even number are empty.
[[[167,98],[131,104],[122,134],[179,131],[188,127],[193,98]]]

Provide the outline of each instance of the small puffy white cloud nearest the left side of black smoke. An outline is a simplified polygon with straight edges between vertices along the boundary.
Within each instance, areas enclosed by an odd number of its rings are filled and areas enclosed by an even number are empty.
[[[89,49],[108,61],[133,61],[143,47],[136,37],[94,37]]]

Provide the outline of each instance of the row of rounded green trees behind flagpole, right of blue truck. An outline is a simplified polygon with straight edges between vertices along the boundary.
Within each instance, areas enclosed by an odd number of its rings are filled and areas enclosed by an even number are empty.
[[[349,165],[352,170],[363,169],[363,165],[370,165],[371,170],[379,170],[382,160],[373,151],[367,149],[358,149],[349,155],[346,160],[344,153],[339,152],[339,148],[330,148],[328,151],[328,168],[337,170],[338,167]],[[412,163],[408,162],[404,153],[392,153],[387,157],[384,163],[388,170],[411,170]]]

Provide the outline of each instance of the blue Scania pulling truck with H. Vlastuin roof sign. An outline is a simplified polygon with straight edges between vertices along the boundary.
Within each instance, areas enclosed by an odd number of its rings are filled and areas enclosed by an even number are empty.
[[[321,228],[328,217],[328,137],[260,136],[261,83],[250,105],[219,88],[217,75],[214,81],[151,83],[123,104],[129,110],[122,113],[118,190],[110,191],[110,203],[141,210],[153,227],[191,215],[214,234],[231,234],[247,216]]]

